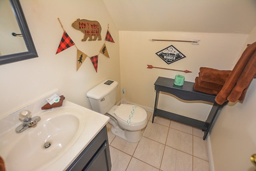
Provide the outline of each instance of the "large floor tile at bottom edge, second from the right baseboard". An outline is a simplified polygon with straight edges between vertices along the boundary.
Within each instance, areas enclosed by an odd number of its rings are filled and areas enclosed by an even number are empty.
[[[166,146],[160,170],[192,171],[192,155]]]

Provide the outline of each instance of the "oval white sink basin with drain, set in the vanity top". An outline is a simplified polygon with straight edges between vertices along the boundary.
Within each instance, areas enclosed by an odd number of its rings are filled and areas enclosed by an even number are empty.
[[[38,115],[41,121],[35,127],[30,127],[21,136],[14,133],[19,140],[6,156],[6,163],[12,163],[7,165],[8,169],[35,170],[58,159],[79,138],[86,121],[83,112],[74,107],[57,108]]]

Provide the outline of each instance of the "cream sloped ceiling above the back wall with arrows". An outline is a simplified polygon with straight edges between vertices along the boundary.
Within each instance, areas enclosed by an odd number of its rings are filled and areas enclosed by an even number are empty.
[[[103,0],[119,30],[249,34],[256,0]]]

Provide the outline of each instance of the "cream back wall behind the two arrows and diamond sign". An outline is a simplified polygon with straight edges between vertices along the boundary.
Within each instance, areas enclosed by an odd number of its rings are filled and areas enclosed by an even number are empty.
[[[158,76],[174,78],[176,74],[185,76],[185,81],[194,82],[199,68],[211,67],[232,70],[246,34],[217,34],[194,32],[136,32],[120,31],[121,89],[125,87],[126,100],[154,108],[154,82]],[[151,42],[149,39],[192,40],[199,45],[186,42]],[[166,64],[155,53],[173,45],[186,58]],[[170,70],[147,69],[147,64],[162,68],[189,70],[192,73]],[[206,120],[211,106],[203,103],[183,103],[176,98],[160,94],[158,107],[180,113],[199,120]],[[182,108],[182,109],[181,109]]]

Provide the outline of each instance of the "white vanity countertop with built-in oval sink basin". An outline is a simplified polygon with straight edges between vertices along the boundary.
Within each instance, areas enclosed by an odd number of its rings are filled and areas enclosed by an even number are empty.
[[[22,133],[14,128],[0,137],[0,155],[7,171],[67,169],[108,122],[105,115],[69,101],[32,113],[36,115],[41,120],[34,127]]]

